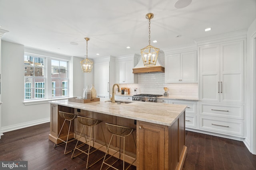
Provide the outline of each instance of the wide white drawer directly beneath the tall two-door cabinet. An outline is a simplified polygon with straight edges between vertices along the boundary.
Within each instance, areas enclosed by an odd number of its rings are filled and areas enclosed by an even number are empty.
[[[200,115],[244,119],[244,106],[200,104]]]

